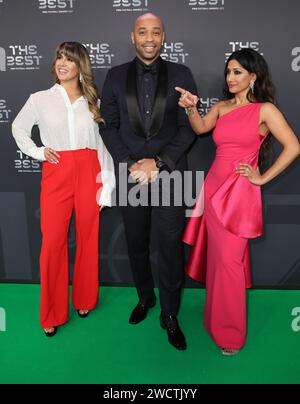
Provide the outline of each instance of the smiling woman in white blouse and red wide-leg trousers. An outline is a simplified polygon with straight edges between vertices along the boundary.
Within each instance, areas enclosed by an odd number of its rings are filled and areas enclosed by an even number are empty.
[[[73,211],[73,305],[80,317],[97,305],[99,205],[111,206],[115,186],[113,161],[99,135],[102,118],[85,47],[78,42],[62,43],[53,73],[56,84],[31,94],[12,125],[22,152],[44,161],[40,321],[47,336],[55,335],[57,327],[68,321],[67,235]],[[31,139],[34,125],[39,126],[43,147]]]

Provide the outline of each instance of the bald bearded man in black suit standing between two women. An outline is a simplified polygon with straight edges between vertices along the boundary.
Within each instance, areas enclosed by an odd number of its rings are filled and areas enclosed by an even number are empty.
[[[135,21],[131,39],[136,58],[112,68],[107,74],[101,96],[105,124],[100,126],[100,134],[116,165],[126,164],[126,181],[131,180],[127,185],[129,192],[133,187],[140,187],[141,194],[145,195],[147,187],[146,194],[151,199],[151,185],[159,183],[159,196],[163,198],[167,192],[170,197],[169,206],[149,203],[148,206],[121,207],[139,296],[129,322],[143,321],[156,303],[149,260],[153,226],[158,244],[160,323],[167,330],[169,342],[184,350],[186,341],[176,317],[184,280],[181,242],[184,205],[182,200],[180,204],[175,203],[174,186],[167,189],[161,185],[159,177],[174,170],[183,173],[187,168],[186,152],[195,136],[184,110],[178,106],[175,86],[193,94],[197,89],[187,67],[160,57],[164,37],[159,17],[147,13]]]

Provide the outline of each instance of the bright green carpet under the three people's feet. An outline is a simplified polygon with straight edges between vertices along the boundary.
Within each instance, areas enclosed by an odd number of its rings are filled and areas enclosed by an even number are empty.
[[[179,319],[188,349],[180,352],[159,326],[159,305],[143,323],[128,324],[133,288],[102,287],[88,318],[71,309],[69,323],[47,338],[39,285],[0,285],[0,383],[300,383],[300,332],[291,327],[298,291],[249,291],[248,342],[231,358],[203,328],[204,299],[203,289],[184,291]]]

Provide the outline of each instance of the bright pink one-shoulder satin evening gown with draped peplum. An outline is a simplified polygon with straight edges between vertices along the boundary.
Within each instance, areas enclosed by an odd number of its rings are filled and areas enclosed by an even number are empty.
[[[246,288],[251,287],[248,239],[262,234],[261,190],[235,172],[257,168],[266,136],[259,132],[261,103],[219,117],[216,157],[184,231],[191,249],[187,274],[206,283],[204,325],[219,347],[241,349],[246,340]]]

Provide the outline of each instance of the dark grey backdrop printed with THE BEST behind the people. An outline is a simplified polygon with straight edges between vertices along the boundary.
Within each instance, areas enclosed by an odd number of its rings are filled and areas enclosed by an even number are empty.
[[[189,66],[205,113],[222,97],[223,68],[235,50],[250,47],[269,63],[280,109],[300,133],[300,2],[298,0],[0,0],[0,281],[39,282],[41,164],[18,150],[11,123],[31,93],[53,85],[51,64],[63,41],[90,54],[101,95],[112,66],[134,57],[130,32],[145,12],[162,17],[162,56]],[[33,130],[39,142],[38,130]],[[277,152],[280,148],[277,147]],[[191,170],[207,172],[215,148],[197,138]],[[300,162],[265,186],[264,236],[251,241],[256,287],[300,286]],[[117,207],[101,214],[102,284],[132,285]],[[76,240],[69,234],[72,277]],[[156,274],[156,246],[152,246]],[[186,286],[196,286],[187,280]]]

